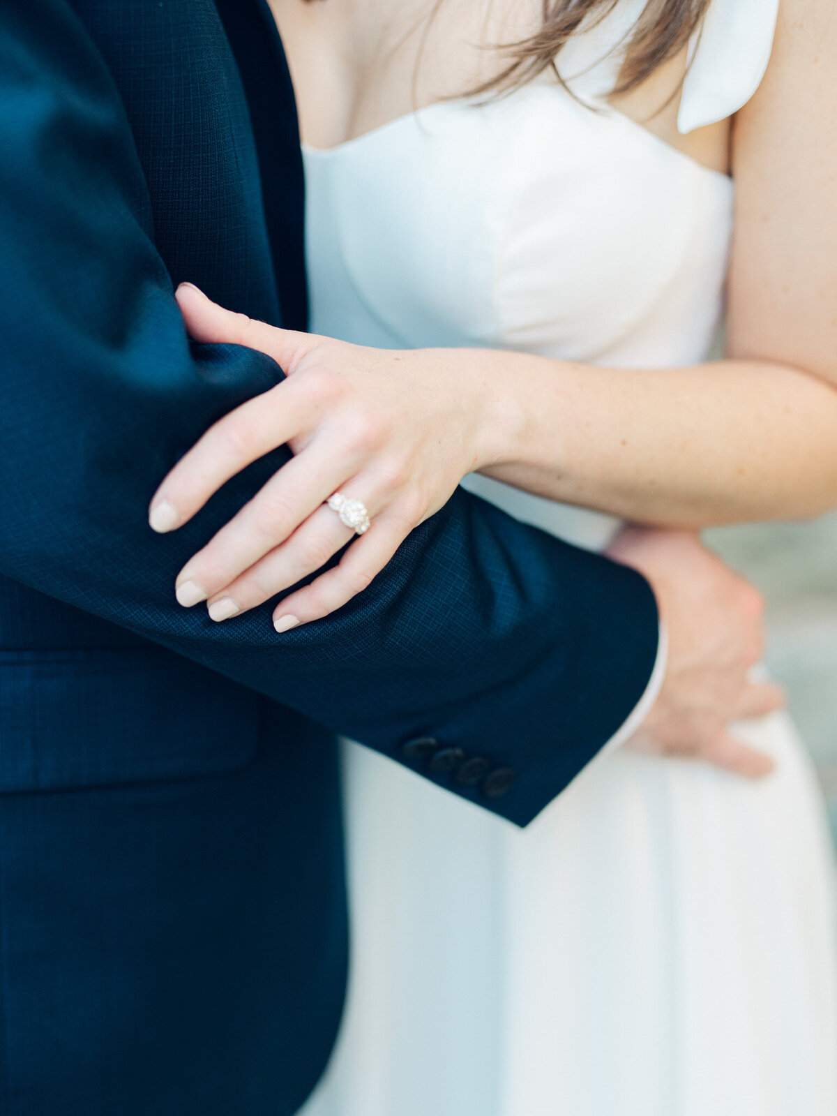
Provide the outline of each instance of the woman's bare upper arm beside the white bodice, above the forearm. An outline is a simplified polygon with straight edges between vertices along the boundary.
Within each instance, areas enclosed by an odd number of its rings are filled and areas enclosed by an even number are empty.
[[[730,350],[837,382],[837,0],[781,0],[733,129]]]

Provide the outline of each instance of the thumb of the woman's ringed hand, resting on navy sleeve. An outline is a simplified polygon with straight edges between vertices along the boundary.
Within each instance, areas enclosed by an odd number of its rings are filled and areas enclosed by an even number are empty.
[[[191,282],[182,282],[175,296],[189,336],[208,345],[243,345],[272,357],[286,372],[306,356],[320,338],[294,329],[278,329],[246,314],[225,310]]]

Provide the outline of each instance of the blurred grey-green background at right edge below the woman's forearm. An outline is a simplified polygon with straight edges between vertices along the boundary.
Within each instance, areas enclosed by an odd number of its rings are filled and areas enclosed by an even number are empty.
[[[704,538],[767,598],[768,665],[814,756],[837,845],[837,513]]]

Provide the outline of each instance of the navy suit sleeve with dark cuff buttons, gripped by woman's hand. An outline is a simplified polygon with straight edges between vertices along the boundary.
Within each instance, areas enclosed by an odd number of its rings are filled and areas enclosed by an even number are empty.
[[[68,9],[0,15],[0,571],[526,825],[645,690],[650,587],[460,490],[321,622],[279,636],[267,608],[222,625],[181,609],[176,571],[285,458],[171,536],[148,529],[148,500],[281,372],[190,347],[118,94]]]

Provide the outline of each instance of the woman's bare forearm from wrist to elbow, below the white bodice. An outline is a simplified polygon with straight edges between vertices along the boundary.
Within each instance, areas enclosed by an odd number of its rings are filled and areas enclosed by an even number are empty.
[[[727,359],[612,369],[483,354],[494,455],[481,471],[625,519],[703,527],[837,506],[837,389]]]

